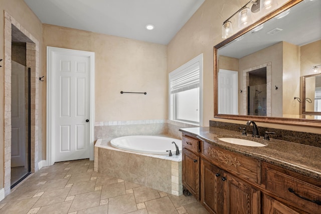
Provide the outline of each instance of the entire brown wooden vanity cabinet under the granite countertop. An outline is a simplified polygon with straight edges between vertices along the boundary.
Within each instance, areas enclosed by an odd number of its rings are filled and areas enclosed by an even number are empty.
[[[321,214],[321,182],[183,134],[183,186],[210,213]]]

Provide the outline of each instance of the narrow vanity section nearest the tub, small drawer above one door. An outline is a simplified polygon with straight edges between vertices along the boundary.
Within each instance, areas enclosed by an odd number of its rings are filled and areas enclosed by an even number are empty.
[[[192,136],[182,137],[182,183],[200,200],[200,141]]]

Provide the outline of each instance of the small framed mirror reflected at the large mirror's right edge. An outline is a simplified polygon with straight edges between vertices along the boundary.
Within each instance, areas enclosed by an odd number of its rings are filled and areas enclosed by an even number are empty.
[[[302,114],[306,118],[321,119],[321,74],[303,76],[302,86]]]

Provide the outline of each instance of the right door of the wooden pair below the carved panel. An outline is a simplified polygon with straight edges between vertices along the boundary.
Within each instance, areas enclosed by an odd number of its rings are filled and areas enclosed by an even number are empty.
[[[223,213],[260,213],[260,191],[224,172]]]

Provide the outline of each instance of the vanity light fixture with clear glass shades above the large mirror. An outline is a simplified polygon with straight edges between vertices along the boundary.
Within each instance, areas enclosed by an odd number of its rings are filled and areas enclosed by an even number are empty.
[[[251,10],[247,7],[252,4]],[[231,17],[229,17],[222,26],[222,38],[226,39],[233,34],[233,26],[230,19],[232,19],[238,13],[238,27],[244,28],[252,23],[251,13],[257,13],[260,10],[269,10],[273,6],[273,0],[251,0],[246,3],[242,8],[235,12]],[[262,26],[263,27],[263,26]]]

